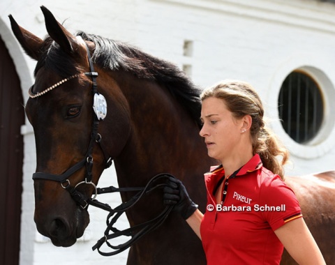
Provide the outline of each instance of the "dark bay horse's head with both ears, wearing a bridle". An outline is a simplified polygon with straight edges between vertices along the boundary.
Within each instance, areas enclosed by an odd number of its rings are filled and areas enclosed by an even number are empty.
[[[108,119],[98,128],[99,117],[92,108],[99,104],[94,103],[94,95],[98,95],[94,91],[96,72],[89,64],[94,44],[73,36],[47,8],[41,9],[49,33],[45,40],[20,27],[10,16],[17,40],[37,61],[36,81],[25,107],[36,140],[34,220],[38,232],[54,245],[70,246],[89,224],[87,207],[78,201],[85,202],[96,192],[106,164],[105,153],[117,156],[126,144],[129,115],[115,87],[113,103],[107,98]],[[110,132],[103,123],[113,126],[112,121],[117,124]],[[117,137],[118,141],[102,150],[97,143],[101,135]],[[80,197],[77,202],[73,195]]]

